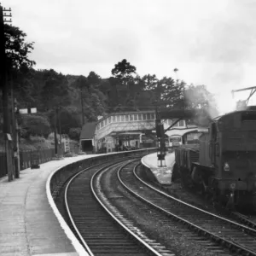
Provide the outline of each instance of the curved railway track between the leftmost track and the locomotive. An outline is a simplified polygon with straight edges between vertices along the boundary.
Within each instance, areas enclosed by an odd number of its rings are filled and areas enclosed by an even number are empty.
[[[170,218],[186,224],[196,234],[229,248],[231,252],[239,255],[256,255],[256,230],[177,200],[144,183],[135,171],[136,166],[133,170],[135,175],[131,175],[129,169],[119,171],[120,181],[126,189],[130,189],[132,195]]]

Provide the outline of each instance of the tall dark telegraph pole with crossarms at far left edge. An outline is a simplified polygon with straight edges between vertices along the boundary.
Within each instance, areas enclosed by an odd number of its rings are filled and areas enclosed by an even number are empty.
[[[4,12],[4,13],[3,13]],[[13,180],[13,152],[11,147],[9,118],[9,87],[7,84],[7,60],[5,53],[4,22],[11,22],[4,17],[11,17],[11,9],[3,9],[0,5],[0,87],[3,92],[3,133],[6,148],[7,172],[9,181]],[[3,20],[4,18],[4,20]]]

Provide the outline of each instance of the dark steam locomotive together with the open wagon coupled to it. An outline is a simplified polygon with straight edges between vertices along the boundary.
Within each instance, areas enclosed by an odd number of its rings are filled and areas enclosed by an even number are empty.
[[[214,202],[231,208],[255,207],[256,110],[212,119],[198,143],[175,149],[175,160],[174,172],[187,185],[212,195]]]

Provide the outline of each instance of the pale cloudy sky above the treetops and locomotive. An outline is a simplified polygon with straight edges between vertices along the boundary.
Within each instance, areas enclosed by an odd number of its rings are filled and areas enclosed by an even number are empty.
[[[255,0],[2,0],[34,41],[35,68],[108,78],[126,59],[140,76],[205,84],[220,113],[256,86]],[[174,68],[178,69],[174,73]],[[251,103],[256,103],[256,96]]]

